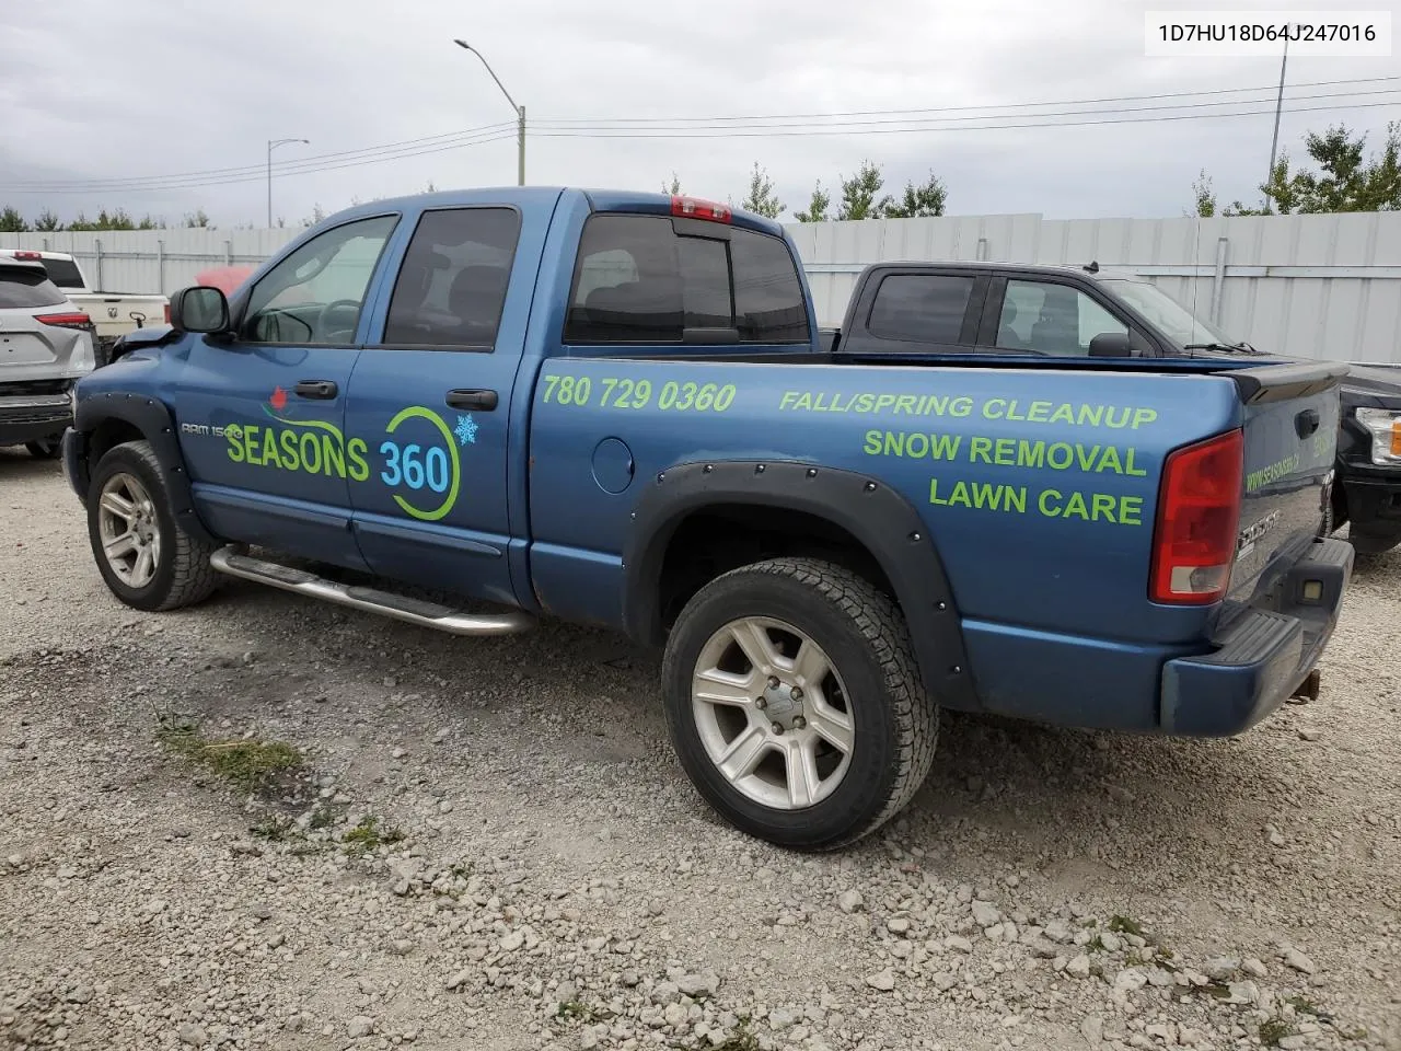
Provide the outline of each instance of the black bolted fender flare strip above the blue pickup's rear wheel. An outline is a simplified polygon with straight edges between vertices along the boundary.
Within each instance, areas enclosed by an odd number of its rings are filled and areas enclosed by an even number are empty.
[[[730,460],[679,464],[650,479],[623,545],[623,624],[633,639],[663,640],[657,582],[667,547],[686,517],[719,504],[803,511],[855,537],[891,582],[926,688],[948,708],[982,710],[953,590],[929,527],[904,496],[855,471]]]

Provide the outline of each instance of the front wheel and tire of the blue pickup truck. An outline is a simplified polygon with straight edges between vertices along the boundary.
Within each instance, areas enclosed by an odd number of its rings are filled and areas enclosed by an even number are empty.
[[[108,497],[116,500],[108,500]],[[118,513],[126,504],[125,520]],[[87,500],[88,541],[92,558],[112,594],[136,610],[178,610],[207,598],[220,584],[209,565],[216,545],[185,533],[171,509],[165,472],[149,441],[113,446],[98,461]],[[132,517],[134,516],[134,518]],[[130,537],[134,551],[109,555],[108,544]],[[154,538],[154,542],[143,538]],[[140,551],[150,551],[142,566]]]

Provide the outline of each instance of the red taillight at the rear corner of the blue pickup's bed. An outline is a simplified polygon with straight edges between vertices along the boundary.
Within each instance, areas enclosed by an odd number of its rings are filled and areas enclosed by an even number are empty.
[[[1152,598],[1205,605],[1226,594],[1240,526],[1238,430],[1168,454],[1153,527]]]

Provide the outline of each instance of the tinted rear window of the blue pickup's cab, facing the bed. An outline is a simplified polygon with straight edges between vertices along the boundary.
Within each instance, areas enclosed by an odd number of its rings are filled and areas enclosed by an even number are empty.
[[[806,342],[803,286],[787,245],[729,233],[730,241],[679,237],[663,216],[594,216],[579,247],[565,342],[677,343],[685,329],[737,331],[745,343]],[[692,341],[706,342],[703,334]]]

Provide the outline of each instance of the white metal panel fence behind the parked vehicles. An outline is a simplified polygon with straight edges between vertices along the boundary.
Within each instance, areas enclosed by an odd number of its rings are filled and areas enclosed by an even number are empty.
[[[1401,212],[1045,220],[1037,214],[789,226],[818,321],[838,325],[873,262],[1061,263],[1131,270],[1261,349],[1401,363]],[[73,252],[111,291],[163,291],[209,266],[258,263],[301,233],[139,230],[0,234],[3,248]]]

